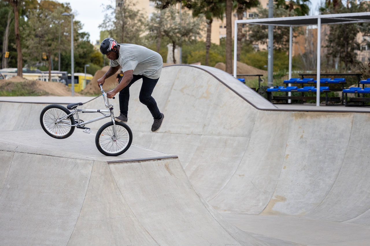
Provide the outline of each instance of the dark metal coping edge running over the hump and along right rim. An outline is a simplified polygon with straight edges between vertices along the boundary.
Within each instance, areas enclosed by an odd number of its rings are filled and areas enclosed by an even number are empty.
[[[244,96],[242,96],[240,93],[238,93],[236,90],[234,90],[233,88],[231,88],[229,85],[227,85],[225,82],[223,82],[221,79],[219,79],[218,77],[216,77],[214,74],[212,74],[211,72],[207,71],[206,69],[204,68],[200,68],[198,66],[195,66],[195,65],[188,65],[188,64],[174,64],[174,65],[168,65],[168,66],[191,66],[193,68],[198,68],[198,69],[201,69],[205,72],[207,72],[208,74],[212,75],[215,79],[217,79],[219,82],[221,82],[223,85],[225,85],[227,88],[229,88],[230,90],[232,90],[236,95],[240,96],[243,100],[245,100],[246,102],[248,102],[250,105],[252,105],[253,107],[255,107],[256,109],[258,110],[265,110],[265,111],[288,111],[288,112],[330,112],[330,113],[369,113],[369,111],[357,111],[357,110],[326,110],[326,109],[279,109],[277,108],[275,105],[273,105],[274,107],[276,107],[276,109],[263,109],[263,108],[260,108],[256,105],[254,105],[252,102],[250,102],[248,99],[246,99]],[[167,67],[167,66],[164,66],[164,67]],[[232,75],[230,75],[232,76]],[[255,92],[257,93],[257,92]]]

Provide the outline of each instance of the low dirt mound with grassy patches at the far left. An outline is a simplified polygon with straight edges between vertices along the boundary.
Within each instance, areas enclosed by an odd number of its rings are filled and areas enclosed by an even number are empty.
[[[0,81],[0,91],[14,96],[71,96],[71,89],[58,82],[27,80],[19,76]],[[75,93],[75,96],[81,96]]]

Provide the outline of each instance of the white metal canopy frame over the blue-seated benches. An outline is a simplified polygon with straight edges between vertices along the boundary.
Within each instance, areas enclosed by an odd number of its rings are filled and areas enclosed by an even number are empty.
[[[236,20],[234,23],[234,51],[237,49],[238,24],[278,25],[290,27],[289,32],[289,79],[292,78],[292,37],[293,26],[317,25],[317,90],[316,106],[320,106],[320,48],[321,48],[321,25],[348,24],[370,22],[370,12],[345,13],[345,14],[322,14],[318,16],[294,16],[279,18],[263,18],[250,20]],[[234,52],[234,77],[236,78],[236,53]],[[290,84],[289,84],[290,85]]]

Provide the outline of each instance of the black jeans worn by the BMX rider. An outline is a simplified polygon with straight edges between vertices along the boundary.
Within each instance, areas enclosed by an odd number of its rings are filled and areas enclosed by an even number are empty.
[[[120,91],[119,99],[120,99],[120,113],[122,115],[126,115],[128,113],[128,100],[130,98],[130,86],[137,80],[142,78],[142,85],[139,94],[139,100],[142,104],[146,105],[152,114],[154,119],[161,118],[161,112],[159,112],[157,103],[155,102],[154,98],[152,97],[152,92],[154,90],[155,85],[157,85],[158,79],[151,79],[145,77],[144,75],[132,75],[133,78],[131,82]],[[121,81],[120,81],[121,83]]]

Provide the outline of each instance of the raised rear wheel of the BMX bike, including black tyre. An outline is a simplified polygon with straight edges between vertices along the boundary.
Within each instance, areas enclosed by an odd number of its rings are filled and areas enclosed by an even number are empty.
[[[67,137],[71,136],[75,127],[58,126],[58,124],[53,122],[55,122],[58,118],[60,119],[65,115],[69,115],[70,113],[70,110],[58,104],[51,104],[44,107],[40,113],[40,124],[42,129],[50,137],[54,137],[55,139],[66,139]],[[65,119],[64,123],[74,125],[75,121],[73,116]]]

